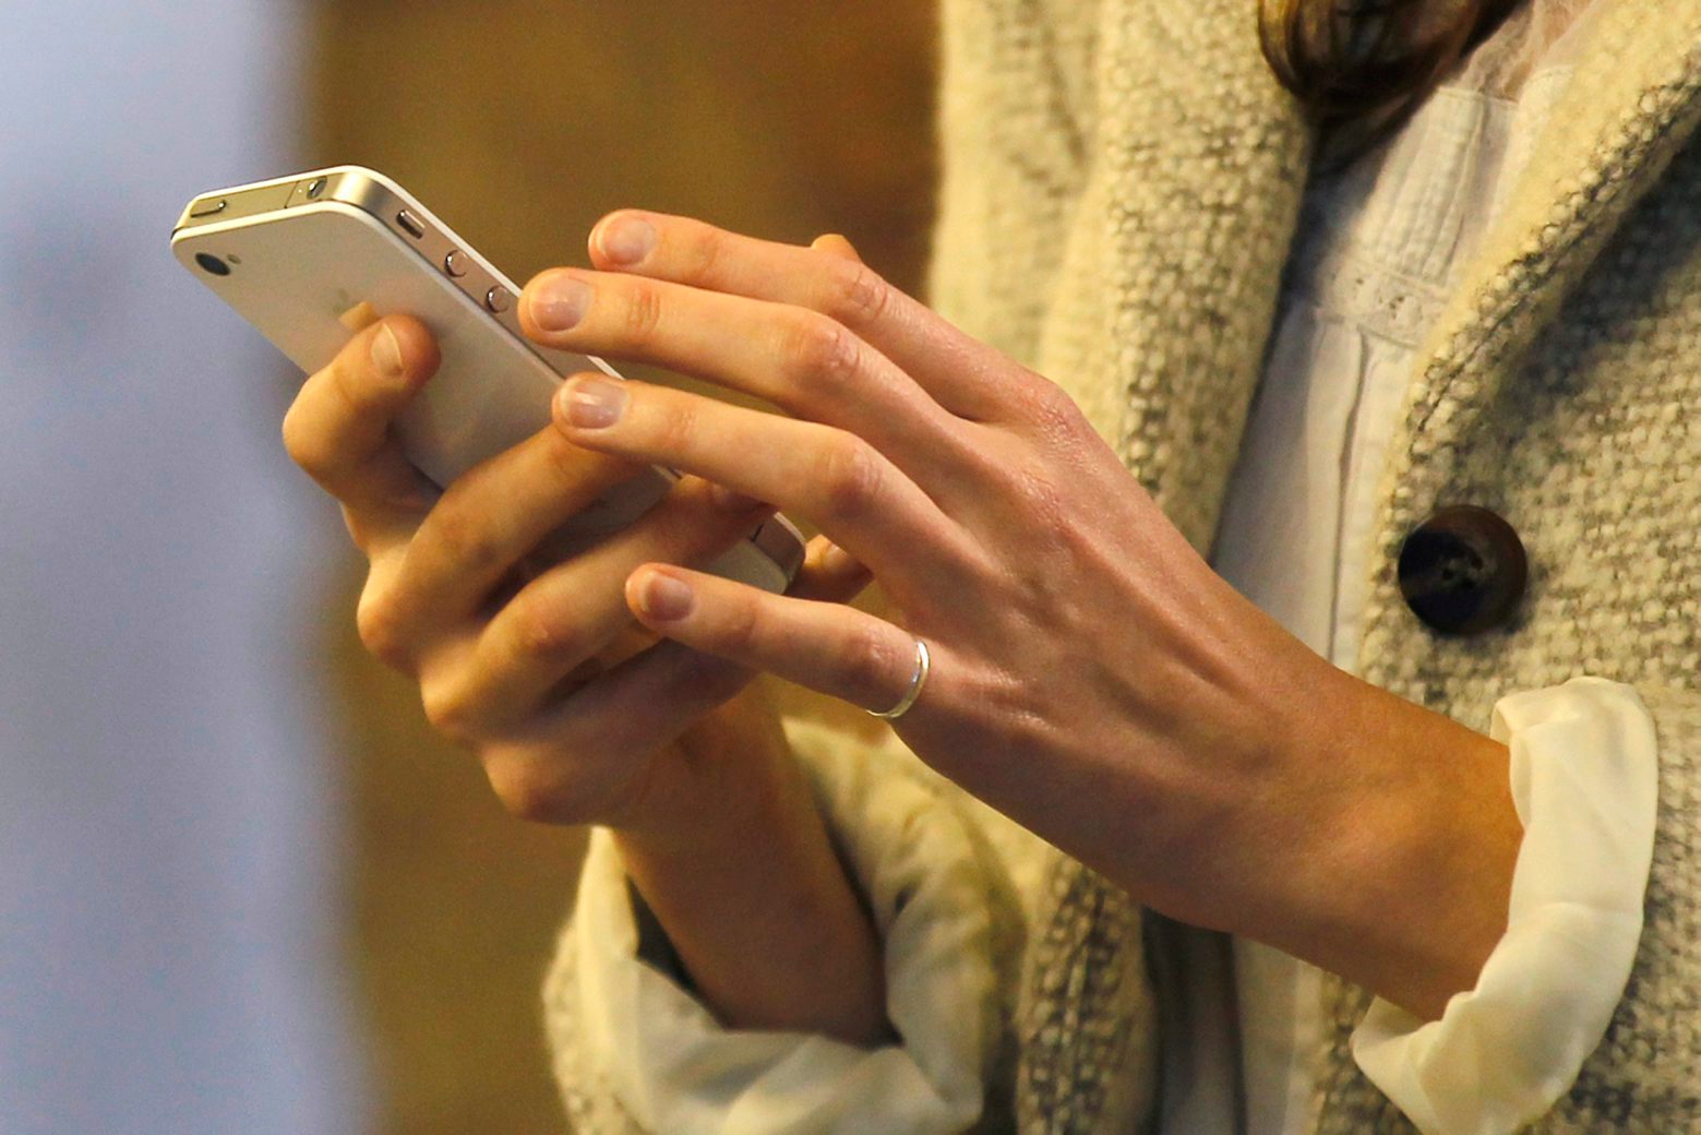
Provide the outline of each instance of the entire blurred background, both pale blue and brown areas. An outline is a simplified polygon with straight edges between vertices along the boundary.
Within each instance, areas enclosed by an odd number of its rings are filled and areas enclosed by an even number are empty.
[[[299,376],[170,223],[357,162],[521,281],[634,204],[913,289],[930,0],[0,17],[0,1132],[565,1132],[538,989],[582,832],[509,818],[361,653],[277,441]]]

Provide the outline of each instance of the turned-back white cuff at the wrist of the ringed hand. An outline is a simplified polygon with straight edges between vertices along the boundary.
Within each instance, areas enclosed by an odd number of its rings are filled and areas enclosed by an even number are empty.
[[[1653,856],[1658,752],[1630,686],[1579,677],[1504,698],[1524,841],[1505,938],[1476,989],[1420,1023],[1385,1001],[1352,1035],[1359,1067],[1425,1135],[1500,1135],[1577,1081],[1624,995]]]

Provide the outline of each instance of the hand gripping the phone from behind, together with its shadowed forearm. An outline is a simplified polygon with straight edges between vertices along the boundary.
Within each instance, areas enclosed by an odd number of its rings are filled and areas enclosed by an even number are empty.
[[[772,710],[733,699],[750,670],[651,645],[623,601],[640,563],[711,562],[765,505],[687,476],[606,543],[534,565],[544,538],[638,466],[544,427],[439,493],[391,437],[435,364],[418,322],[388,318],[313,374],[284,420],[291,456],[371,560],[367,648],[418,681],[432,725],[478,754],[510,810],[616,829],[723,1019],[885,1038],[879,943]],[[854,592],[861,568],[823,563],[825,550],[811,546],[796,587]]]

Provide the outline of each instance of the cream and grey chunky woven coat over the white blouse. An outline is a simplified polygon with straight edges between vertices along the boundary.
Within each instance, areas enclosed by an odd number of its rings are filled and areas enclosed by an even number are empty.
[[[1412,376],[1361,672],[1485,732],[1500,696],[1579,674],[1648,704],[1662,776],[1643,943],[1606,1040],[1536,1130],[1667,1135],[1701,1130],[1701,0],[1599,3]],[[1061,383],[1208,548],[1311,157],[1254,3],[944,12],[932,301]],[[1402,602],[1400,541],[1442,504],[1493,509],[1522,536],[1514,626],[1439,638]],[[1044,883],[1012,967],[1007,1082],[978,1130],[1129,1135],[1153,1067],[1140,912],[1050,847],[1033,854]],[[631,1130],[575,1067],[570,968],[549,994],[570,1109],[587,1133]],[[1311,1130],[1412,1130],[1347,1050],[1369,995],[1330,980],[1325,999]]]

